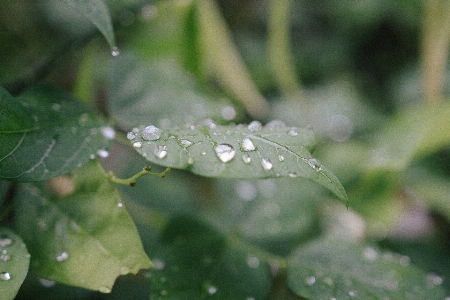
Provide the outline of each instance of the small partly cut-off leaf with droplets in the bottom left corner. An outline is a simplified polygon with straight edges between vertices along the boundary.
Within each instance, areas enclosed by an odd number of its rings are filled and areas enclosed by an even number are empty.
[[[28,273],[30,254],[20,237],[0,227],[0,295],[14,299]]]

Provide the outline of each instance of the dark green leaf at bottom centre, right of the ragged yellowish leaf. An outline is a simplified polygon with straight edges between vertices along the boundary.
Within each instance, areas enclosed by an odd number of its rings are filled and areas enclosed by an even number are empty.
[[[265,299],[267,264],[229,247],[225,237],[186,217],[172,219],[149,271],[152,299]]]

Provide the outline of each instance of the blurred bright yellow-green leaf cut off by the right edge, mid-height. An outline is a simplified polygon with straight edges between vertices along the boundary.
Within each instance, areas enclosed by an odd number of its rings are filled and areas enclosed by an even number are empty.
[[[401,111],[381,131],[369,170],[402,171],[420,156],[450,144],[450,102]]]

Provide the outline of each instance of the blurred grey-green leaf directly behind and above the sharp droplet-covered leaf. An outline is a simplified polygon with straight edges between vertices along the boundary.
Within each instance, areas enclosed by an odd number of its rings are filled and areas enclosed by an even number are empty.
[[[109,94],[112,113],[128,129],[148,120],[169,127],[205,118],[229,122],[237,116],[230,101],[215,101],[200,92],[174,60],[148,63],[122,53],[113,62]]]

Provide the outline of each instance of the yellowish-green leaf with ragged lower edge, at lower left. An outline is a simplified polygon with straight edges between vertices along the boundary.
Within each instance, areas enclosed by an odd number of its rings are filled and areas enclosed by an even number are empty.
[[[131,217],[97,162],[49,185],[53,193],[43,184],[24,184],[16,199],[16,226],[38,276],[109,292],[119,275],[151,267]]]

